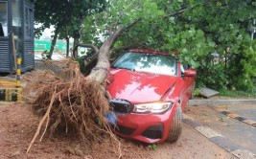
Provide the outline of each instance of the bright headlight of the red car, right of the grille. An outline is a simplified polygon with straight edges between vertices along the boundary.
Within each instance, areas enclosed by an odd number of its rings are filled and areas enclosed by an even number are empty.
[[[166,112],[173,106],[173,102],[151,102],[134,104],[134,113],[155,113],[160,114]]]

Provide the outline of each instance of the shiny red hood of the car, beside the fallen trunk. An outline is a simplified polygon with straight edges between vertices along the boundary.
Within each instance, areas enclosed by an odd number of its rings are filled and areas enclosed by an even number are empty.
[[[175,84],[176,77],[134,72],[125,69],[110,69],[106,86],[113,99],[129,102],[159,101]]]

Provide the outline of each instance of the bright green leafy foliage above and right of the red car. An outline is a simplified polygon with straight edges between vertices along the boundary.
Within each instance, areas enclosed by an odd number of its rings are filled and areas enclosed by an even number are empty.
[[[183,63],[198,70],[198,86],[217,90],[255,86],[256,49],[249,49],[252,44],[246,31],[256,18],[254,1],[108,2],[105,11],[83,21],[83,42],[100,46],[103,41],[99,34],[107,36],[138,21],[116,40],[113,50],[145,48],[170,54],[176,50]],[[213,53],[220,57],[215,59]]]

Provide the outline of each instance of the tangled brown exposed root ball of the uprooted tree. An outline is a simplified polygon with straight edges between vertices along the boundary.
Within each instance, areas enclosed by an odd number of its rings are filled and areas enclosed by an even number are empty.
[[[43,117],[27,152],[40,134],[42,125],[45,125],[40,141],[47,129],[50,134],[64,129],[65,133],[83,140],[100,142],[105,133],[113,139],[121,157],[121,143],[104,116],[109,111],[109,106],[102,86],[94,80],[84,78],[78,63],[65,62],[65,67],[61,67],[58,76],[51,71],[42,71],[36,79],[34,77],[31,80],[35,89],[32,105],[35,112]]]

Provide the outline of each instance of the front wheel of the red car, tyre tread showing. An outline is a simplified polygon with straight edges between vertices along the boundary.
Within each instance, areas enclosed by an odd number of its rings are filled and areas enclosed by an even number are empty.
[[[175,111],[175,116],[171,125],[171,129],[169,131],[169,135],[167,137],[167,141],[171,143],[175,143],[182,131],[182,110],[180,105],[178,104]]]

